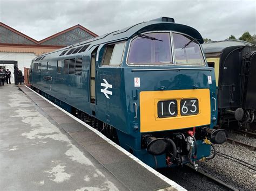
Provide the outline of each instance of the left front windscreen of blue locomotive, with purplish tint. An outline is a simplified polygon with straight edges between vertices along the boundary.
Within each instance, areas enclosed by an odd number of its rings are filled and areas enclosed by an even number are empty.
[[[129,65],[172,65],[169,32],[146,33],[131,41]]]

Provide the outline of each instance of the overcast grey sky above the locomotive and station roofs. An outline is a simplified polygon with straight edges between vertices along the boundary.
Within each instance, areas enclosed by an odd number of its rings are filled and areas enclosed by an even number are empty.
[[[256,34],[256,1],[0,0],[0,22],[42,40],[80,24],[99,36],[161,16],[197,29],[203,38]]]

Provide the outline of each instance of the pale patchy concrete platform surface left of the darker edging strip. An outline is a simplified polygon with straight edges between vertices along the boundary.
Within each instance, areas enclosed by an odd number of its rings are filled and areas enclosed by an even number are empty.
[[[127,190],[14,85],[0,87],[0,122],[1,190]]]

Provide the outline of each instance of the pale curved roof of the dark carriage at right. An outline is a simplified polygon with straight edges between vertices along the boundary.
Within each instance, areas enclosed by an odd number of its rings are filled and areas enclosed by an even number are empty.
[[[204,43],[203,45],[204,53],[222,52],[223,49],[232,46],[254,46],[251,43],[242,40],[223,40],[223,41],[213,41],[211,43]]]

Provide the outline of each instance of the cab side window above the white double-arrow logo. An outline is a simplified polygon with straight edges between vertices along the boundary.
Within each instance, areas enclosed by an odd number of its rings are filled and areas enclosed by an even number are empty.
[[[125,42],[107,45],[103,58],[103,66],[119,66],[124,56]]]

